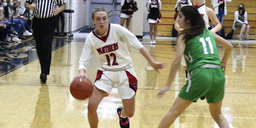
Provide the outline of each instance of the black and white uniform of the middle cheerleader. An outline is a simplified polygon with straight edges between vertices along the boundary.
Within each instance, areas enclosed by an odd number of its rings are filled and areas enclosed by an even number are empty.
[[[158,2],[158,4],[157,4]],[[148,0],[147,1],[147,11],[150,12],[147,15],[147,22],[148,23],[158,23],[161,22],[161,1],[156,0],[155,2],[153,0]],[[159,6],[159,8],[158,8]]]

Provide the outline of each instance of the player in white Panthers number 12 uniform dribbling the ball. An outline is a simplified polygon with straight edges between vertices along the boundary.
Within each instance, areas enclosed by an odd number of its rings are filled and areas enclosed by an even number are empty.
[[[129,118],[135,111],[135,94],[138,85],[127,44],[140,52],[155,70],[166,67],[166,63],[154,61],[146,48],[128,29],[117,24],[110,24],[108,10],[104,7],[95,8],[91,17],[96,28],[85,40],[79,60],[79,76],[77,76],[86,77],[85,72],[91,53],[95,52],[101,67],[97,72],[93,94],[88,102],[90,128],[98,127],[98,105],[103,97],[108,96],[114,85],[117,85],[124,107],[117,109],[120,127],[129,128]]]

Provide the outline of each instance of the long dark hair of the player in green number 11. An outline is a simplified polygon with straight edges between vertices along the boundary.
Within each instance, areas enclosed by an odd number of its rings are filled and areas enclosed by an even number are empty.
[[[184,35],[183,40],[185,40],[185,43],[187,43],[190,39],[200,35],[203,32],[205,29],[204,20],[199,14],[197,8],[191,5],[183,6],[180,12],[182,12],[182,14],[185,16],[185,20],[190,21],[190,27],[182,30],[178,35],[178,37],[180,35]]]

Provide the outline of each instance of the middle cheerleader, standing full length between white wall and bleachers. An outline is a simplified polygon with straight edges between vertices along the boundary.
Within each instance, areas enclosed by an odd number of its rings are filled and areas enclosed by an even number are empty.
[[[161,22],[161,1],[160,0],[148,0],[147,1],[147,11],[150,12],[147,15],[147,22],[150,24],[150,44],[156,44],[156,33],[158,23]],[[154,38],[153,38],[153,28],[154,28]]]

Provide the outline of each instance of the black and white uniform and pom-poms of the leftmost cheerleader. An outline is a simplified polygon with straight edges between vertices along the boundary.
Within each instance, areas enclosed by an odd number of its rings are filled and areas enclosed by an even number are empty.
[[[133,0],[121,0],[121,10],[133,9],[133,11],[121,11],[120,17],[130,18],[132,14],[138,11],[137,2]]]

